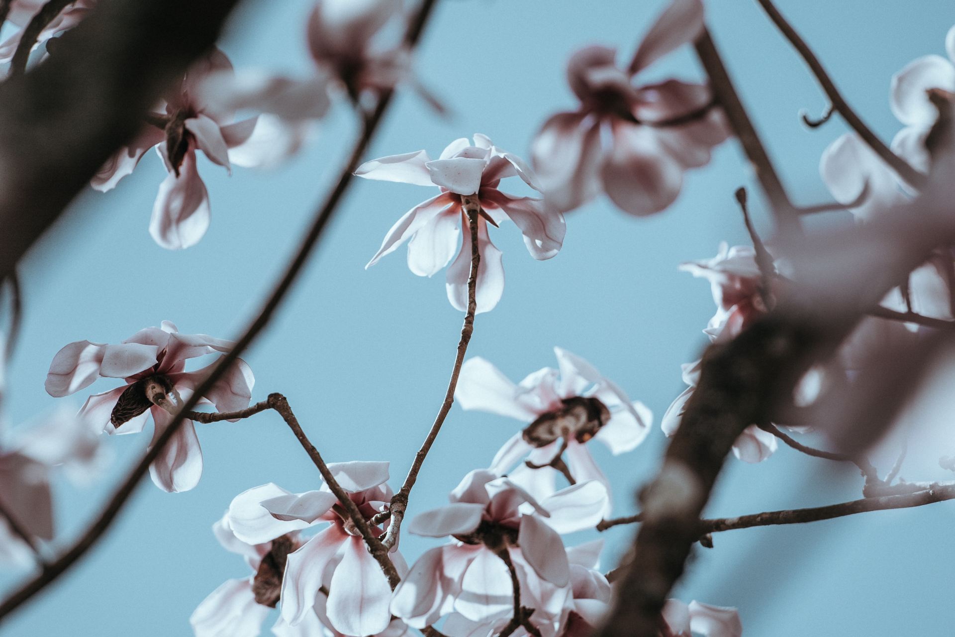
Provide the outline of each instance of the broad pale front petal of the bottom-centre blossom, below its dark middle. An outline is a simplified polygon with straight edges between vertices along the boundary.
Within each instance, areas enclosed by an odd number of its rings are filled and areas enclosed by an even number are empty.
[[[507,566],[490,549],[482,546],[464,571],[455,610],[474,622],[506,617],[513,610],[512,589]]]

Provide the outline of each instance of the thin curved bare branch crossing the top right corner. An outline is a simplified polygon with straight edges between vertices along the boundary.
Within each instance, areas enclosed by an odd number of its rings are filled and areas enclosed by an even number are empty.
[[[833,110],[845,119],[849,127],[856,131],[859,137],[862,138],[892,170],[898,173],[903,180],[906,180],[916,188],[922,187],[925,183],[925,176],[910,166],[904,159],[893,153],[892,150],[866,126],[862,118],[856,114],[842,94],[839,93],[836,84],[833,83],[832,78],[826,73],[816,54],[813,53],[813,50],[809,48],[805,40],[793,29],[792,25],[786,21],[782,13],[775,8],[772,0],[756,0],[756,2],[763,8],[763,11],[766,11],[766,14],[770,20],[773,21],[776,28],[790,41],[796,49],[796,52],[799,53],[806,62],[806,65],[809,66],[810,71],[816,76],[822,91],[829,97]]]

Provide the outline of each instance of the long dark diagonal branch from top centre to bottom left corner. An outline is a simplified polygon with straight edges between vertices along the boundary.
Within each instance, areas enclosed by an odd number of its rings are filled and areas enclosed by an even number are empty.
[[[424,25],[427,22],[428,16],[434,9],[435,3],[436,0],[424,0],[422,2],[421,8],[418,10],[405,36],[405,42],[410,47],[414,46],[414,44],[417,42],[421,32],[423,31]],[[100,511],[99,515],[96,516],[96,519],[87,527],[86,531],[82,533],[79,539],[76,540],[74,544],[71,545],[70,548],[64,553],[62,553],[55,561],[50,563],[47,569],[34,577],[31,581],[23,584],[20,586],[20,588],[13,591],[11,595],[4,600],[2,604],[0,604],[0,619],[9,615],[20,605],[23,605],[25,602],[30,600],[36,593],[43,590],[47,585],[51,584],[77,560],[83,557],[86,552],[90,550],[90,548],[93,547],[96,541],[103,536],[106,530],[113,524],[114,520],[117,519],[119,512],[136,491],[138,483],[149,472],[149,466],[153,463],[153,460],[159,457],[159,454],[162,452],[165,446],[169,444],[169,441],[172,439],[173,435],[176,435],[176,432],[179,431],[182,421],[185,418],[185,414],[192,412],[192,410],[199,403],[202,395],[207,393],[212,386],[223,377],[223,374],[228,371],[239,355],[246,350],[252,341],[254,341],[259,335],[259,333],[265,329],[265,326],[268,325],[276,308],[278,308],[285,299],[288,289],[298,278],[302,268],[308,262],[308,256],[311,253],[312,248],[314,248],[315,244],[318,243],[318,240],[322,236],[325,228],[328,226],[329,220],[331,219],[332,214],[335,212],[338,203],[341,202],[342,197],[348,190],[352,179],[352,173],[358,167],[358,164],[365,153],[365,149],[368,148],[369,144],[371,143],[371,138],[374,136],[374,133],[378,128],[378,124],[381,122],[386,111],[388,110],[388,106],[391,103],[392,97],[392,90],[387,90],[381,93],[374,110],[365,120],[365,125],[362,129],[361,135],[355,140],[350,158],[342,169],[335,187],[331,190],[325,201],[319,206],[312,221],[311,227],[309,227],[308,232],[302,240],[302,244],[299,245],[294,257],[286,266],[286,270],[282,277],[276,283],[276,286],[265,300],[265,303],[259,310],[258,316],[249,325],[249,327],[245,329],[242,337],[236,342],[235,347],[226,353],[220,359],[220,362],[215,369],[213,369],[212,372],[206,376],[205,380],[200,384],[189,400],[187,400],[182,406],[180,414],[177,414],[175,417],[173,417],[166,430],[159,435],[159,438],[155,441],[153,446],[146,452],[142,459],[139,460],[138,464],[133,467],[126,478],[122,480],[113,496],[107,501],[102,511]]]

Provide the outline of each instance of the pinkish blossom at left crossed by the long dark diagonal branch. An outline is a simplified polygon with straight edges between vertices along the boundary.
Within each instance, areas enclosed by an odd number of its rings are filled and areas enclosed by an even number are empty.
[[[120,378],[124,384],[91,395],[80,410],[96,433],[138,434],[151,414],[153,442],[172,423],[174,414],[202,384],[218,362],[185,372],[185,361],[204,354],[231,350],[234,343],[205,334],[180,334],[163,321],[159,328],[140,329],[118,345],[76,341],[56,352],[46,390],[52,396],[76,393],[97,378]],[[242,359],[237,360],[200,404],[232,412],[248,406],[255,379]],[[202,449],[192,421],[185,419],[149,468],[153,482],[164,491],[188,491],[202,477]]]

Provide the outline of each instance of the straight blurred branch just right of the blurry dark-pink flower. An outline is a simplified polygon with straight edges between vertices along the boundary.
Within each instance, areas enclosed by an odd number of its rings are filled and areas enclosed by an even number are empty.
[[[756,179],[759,180],[763,191],[769,198],[776,225],[783,231],[797,231],[799,218],[796,213],[796,206],[790,202],[789,196],[786,195],[782,181],[779,180],[779,176],[775,172],[773,161],[766,153],[766,148],[753,127],[753,121],[747,114],[742,101],[740,101],[736,89],[732,86],[730,74],[716,50],[716,45],[713,44],[709,31],[703,31],[697,38],[695,47],[703,68],[710,75],[713,96],[723,107],[733,132],[743,146],[743,152],[746,153],[746,157],[753,166]]]

